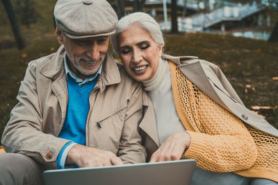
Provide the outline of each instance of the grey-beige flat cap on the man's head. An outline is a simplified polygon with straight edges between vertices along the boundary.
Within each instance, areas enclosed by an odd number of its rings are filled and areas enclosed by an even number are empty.
[[[54,16],[72,39],[111,35],[117,27],[117,15],[105,0],[58,0]]]

